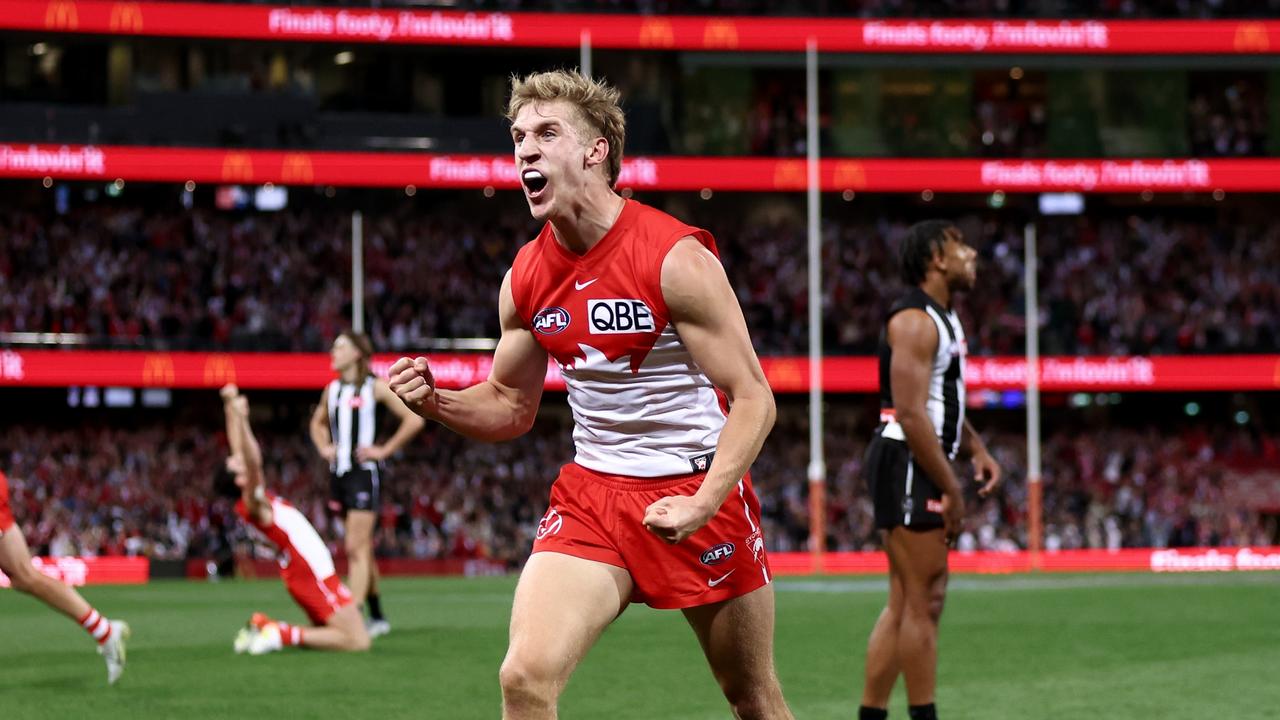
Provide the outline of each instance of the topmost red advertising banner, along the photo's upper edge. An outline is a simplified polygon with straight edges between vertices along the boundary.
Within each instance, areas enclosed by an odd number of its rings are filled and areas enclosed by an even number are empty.
[[[1275,20],[863,20],[0,0],[0,28],[303,42],[1024,55],[1272,54]]]

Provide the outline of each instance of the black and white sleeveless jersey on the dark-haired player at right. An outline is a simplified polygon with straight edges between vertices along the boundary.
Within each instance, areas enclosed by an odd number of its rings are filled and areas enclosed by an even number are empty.
[[[893,414],[893,388],[890,377],[892,348],[888,345],[888,322],[902,310],[923,310],[938,329],[938,350],[933,355],[929,373],[929,395],[924,404],[933,432],[942,443],[942,451],[955,459],[960,450],[964,427],[965,387],[964,363],[969,354],[964,328],[955,310],[947,310],[920,288],[911,288],[890,307],[879,341],[881,436],[906,441],[902,427]]]

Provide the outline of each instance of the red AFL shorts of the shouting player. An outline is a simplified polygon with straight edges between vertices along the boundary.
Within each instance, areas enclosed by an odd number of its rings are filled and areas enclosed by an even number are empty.
[[[562,552],[631,573],[632,602],[696,607],[744,596],[769,583],[760,502],[748,475],[696,533],[667,544],[644,527],[653,502],[698,492],[705,473],[667,478],[607,475],[570,464],[552,486],[534,552]]]

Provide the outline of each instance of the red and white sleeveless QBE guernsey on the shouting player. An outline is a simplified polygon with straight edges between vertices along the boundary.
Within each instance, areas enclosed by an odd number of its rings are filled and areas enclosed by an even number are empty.
[[[662,263],[684,237],[717,252],[709,232],[626,200],[585,255],[566,250],[549,223],[516,255],[516,311],[564,375],[584,468],[657,478],[710,465],[722,396],[662,297]]]

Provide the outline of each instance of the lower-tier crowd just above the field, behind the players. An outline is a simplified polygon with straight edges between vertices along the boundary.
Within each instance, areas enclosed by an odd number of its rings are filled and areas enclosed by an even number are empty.
[[[550,480],[571,455],[568,415],[550,409],[553,404],[549,400],[532,433],[518,441],[483,445],[433,428],[389,461],[379,555],[518,565],[545,510]],[[874,550],[878,539],[861,479],[873,413],[858,404],[833,407],[826,433],[828,547]],[[785,407],[753,468],[773,550],[808,547],[806,421],[803,407]],[[257,432],[268,487],[311,518],[338,552],[340,520],[325,507],[328,473],[305,432],[270,424]],[[134,429],[6,427],[0,466],[9,475],[15,515],[40,555],[216,559],[248,539],[227,501],[211,495],[214,471],[225,457],[219,433],[170,423]],[[977,510],[966,520],[961,550],[1025,547],[1023,441],[997,432],[991,446],[1007,482],[986,501],[972,496]],[[1277,434],[1208,423],[1180,432],[1105,423],[1057,429],[1044,445],[1046,547],[1280,542],[1277,488],[1242,495],[1234,486],[1244,484],[1230,482],[1233,473],[1274,468],[1277,448]]]

